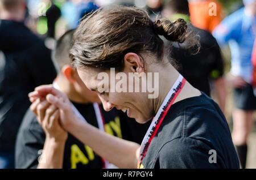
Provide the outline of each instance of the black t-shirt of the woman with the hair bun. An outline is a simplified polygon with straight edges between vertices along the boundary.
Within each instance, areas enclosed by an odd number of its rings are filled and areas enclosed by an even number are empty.
[[[238,169],[228,123],[218,105],[205,94],[172,105],[141,168]]]

